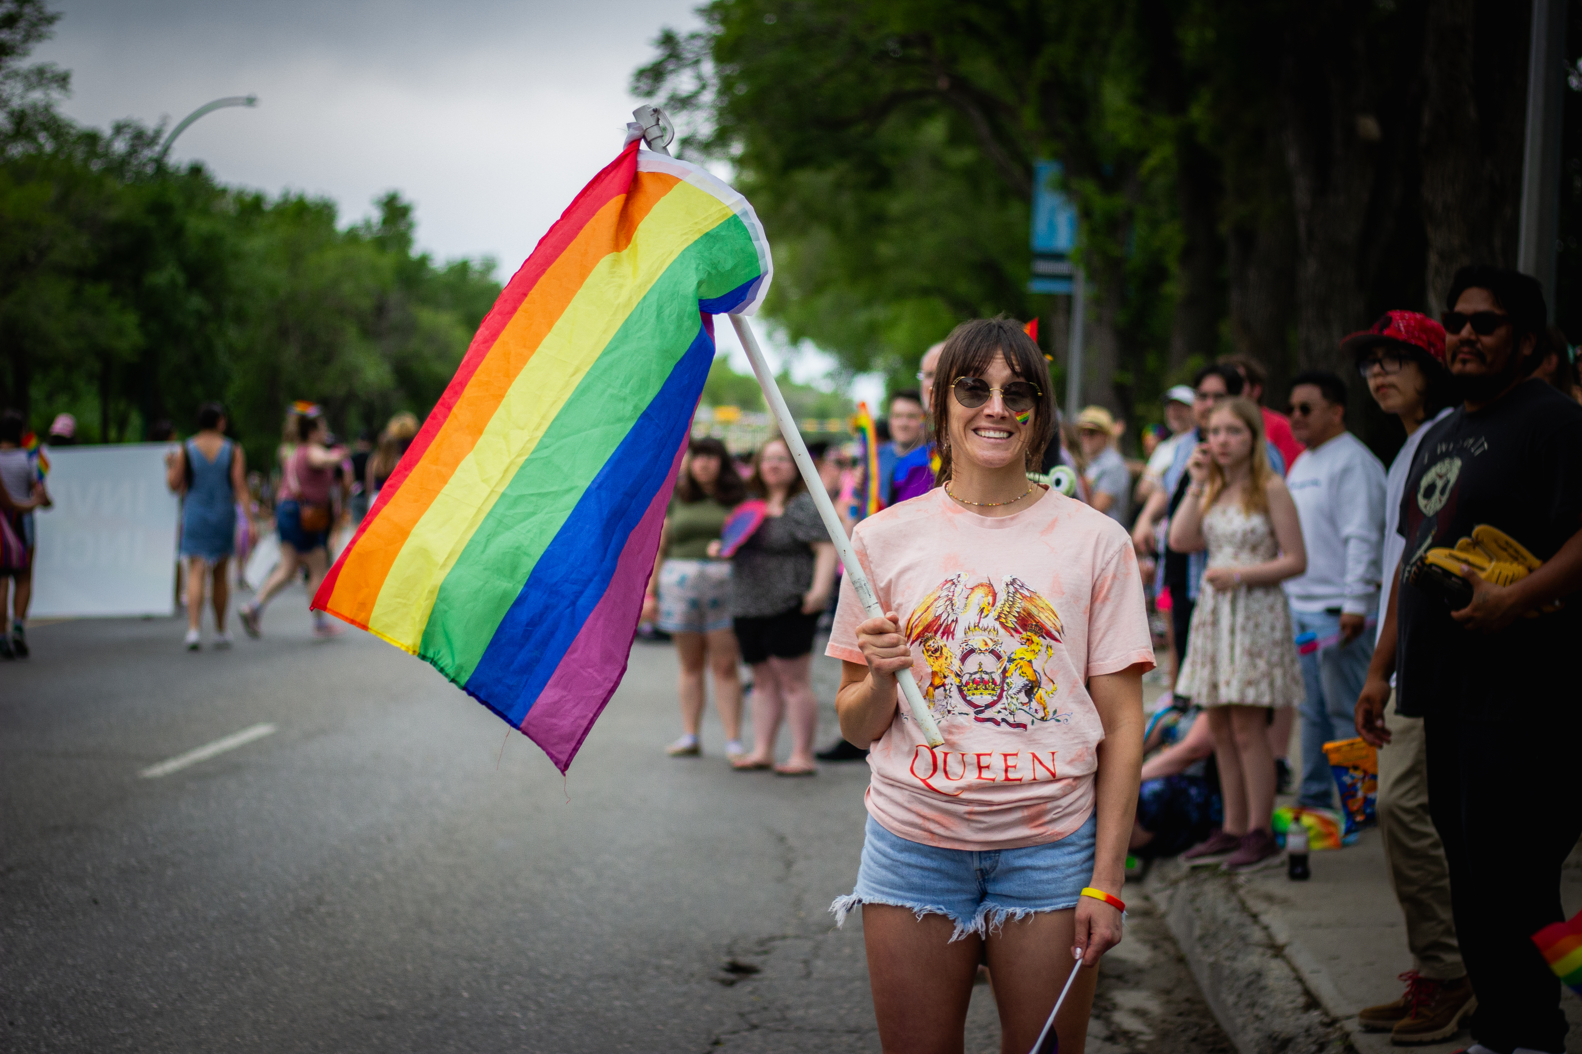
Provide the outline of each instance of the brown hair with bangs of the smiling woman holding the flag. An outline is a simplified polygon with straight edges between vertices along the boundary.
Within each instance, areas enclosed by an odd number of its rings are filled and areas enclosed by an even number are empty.
[[[1022,332],[1022,324],[1003,314],[997,318],[981,318],[962,322],[944,338],[944,351],[940,352],[940,365],[933,373],[933,436],[935,450],[940,455],[940,471],[935,472],[933,485],[943,487],[951,480],[951,406],[956,395],[951,386],[957,378],[979,378],[995,352],[1005,356],[1005,363],[1017,381],[1027,381],[1038,389],[1038,401],[1033,405],[1033,419],[1027,422],[1027,468],[1038,471],[1044,460],[1044,447],[1055,436],[1055,400],[1049,389],[1049,365],[1044,352],[1038,349],[1033,338]]]

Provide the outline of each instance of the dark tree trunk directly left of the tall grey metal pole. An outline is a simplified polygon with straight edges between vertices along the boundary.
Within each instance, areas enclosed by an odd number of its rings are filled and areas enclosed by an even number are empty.
[[[1530,19],[1530,2],[1429,5],[1419,144],[1430,314],[1459,267],[1516,265]]]

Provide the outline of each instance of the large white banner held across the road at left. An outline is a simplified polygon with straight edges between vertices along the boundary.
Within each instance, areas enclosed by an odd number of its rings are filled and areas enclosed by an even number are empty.
[[[54,509],[33,515],[32,618],[174,615],[179,503],[165,442],[51,447]]]

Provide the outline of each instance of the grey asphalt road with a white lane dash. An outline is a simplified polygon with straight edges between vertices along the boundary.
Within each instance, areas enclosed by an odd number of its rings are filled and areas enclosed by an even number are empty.
[[[301,593],[264,629],[44,624],[0,667],[6,1051],[880,1049],[861,921],[826,910],[864,765],[732,773],[718,725],[668,759],[674,654],[639,643],[562,779],[426,664],[315,640]],[[1145,907],[1103,969],[1088,1051],[1229,1049]]]

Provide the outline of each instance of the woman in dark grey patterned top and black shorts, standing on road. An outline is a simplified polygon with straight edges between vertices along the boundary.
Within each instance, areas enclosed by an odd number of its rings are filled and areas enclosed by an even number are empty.
[[[753,670],[753,751],[732,765],[813,776],[813,632],[835,582],[835,547],[785,439],[758,449],[747,488],[767,507],[763,525],[731,558],[736,640]],[[791,725],[791,755],[775,765],[782,719]]]

